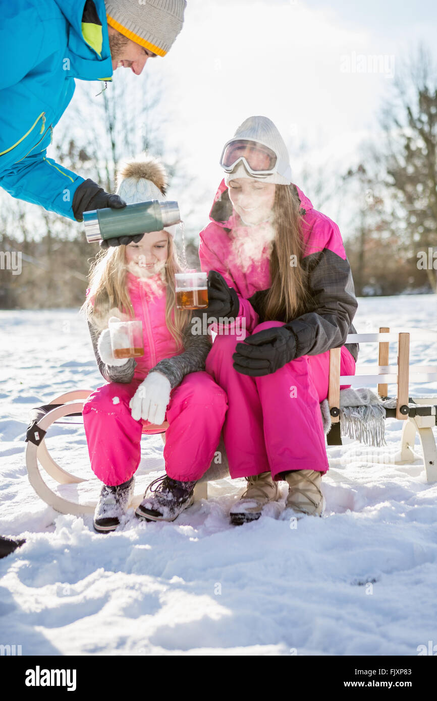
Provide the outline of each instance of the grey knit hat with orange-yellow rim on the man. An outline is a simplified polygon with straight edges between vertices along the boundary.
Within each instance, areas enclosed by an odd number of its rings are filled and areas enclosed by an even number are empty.
[[[186,0],[105,0],[108,25],[159,56],[182,29],[186,6]]]

